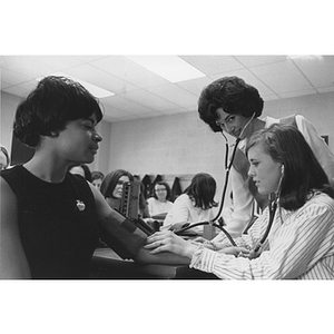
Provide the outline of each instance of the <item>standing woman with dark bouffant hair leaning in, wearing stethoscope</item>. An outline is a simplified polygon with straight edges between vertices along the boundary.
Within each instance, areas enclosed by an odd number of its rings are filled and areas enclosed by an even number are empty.
[[[254,204],[263,210],[267,199],[258,191],[248,177],[249,163],[245,156],[247,139],[257,130],[273,124],[294,126],[298,129],[315,157],[334,184],[334,155],[318,136],[314,126],[302,115],[291,115],[281,119],[261,118],[264,100],[258,90],[238,77],[219,78],[205,87],[198,99],[198,115],[213,131],[226,132],[240,140],[230,168],[234,212],[226,229],[233,236],[240,236],[253,220]]]

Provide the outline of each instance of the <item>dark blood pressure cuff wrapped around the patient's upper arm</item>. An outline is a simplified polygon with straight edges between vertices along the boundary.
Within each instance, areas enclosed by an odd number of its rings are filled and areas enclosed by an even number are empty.
[[[134,258],[147,238],[131,220],[116,210],[99,222],[99,229],[100,238],[121,258]]]

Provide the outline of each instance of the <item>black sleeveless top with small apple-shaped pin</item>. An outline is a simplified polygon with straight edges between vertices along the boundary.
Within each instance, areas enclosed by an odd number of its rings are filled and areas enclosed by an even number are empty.
[[[60,184],[19,165],[1,171],[18,200],[18,224],[32,278],[88,278],[98,243],[94,195],[86,179],[67,173]]]

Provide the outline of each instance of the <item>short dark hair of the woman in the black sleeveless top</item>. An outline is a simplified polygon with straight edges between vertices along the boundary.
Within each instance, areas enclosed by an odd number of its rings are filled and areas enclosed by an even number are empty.
[[[43,78],[17,108],[13,134],[24,145],[37,147],[41,136],[57,137],[70,120],[96,115],[102,119],[98,100],[80,84],[50,76]]]

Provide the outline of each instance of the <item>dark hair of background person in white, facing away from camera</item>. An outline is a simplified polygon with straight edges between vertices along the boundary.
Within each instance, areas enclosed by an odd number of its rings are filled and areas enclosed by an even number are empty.
[[[207,210],[218,205],[214,200],[216,189],[216,180],[209,174],[198,173],[193,177],[190,185],[185,189],[184,194],[187,194],[195,200],[195,207]]]

